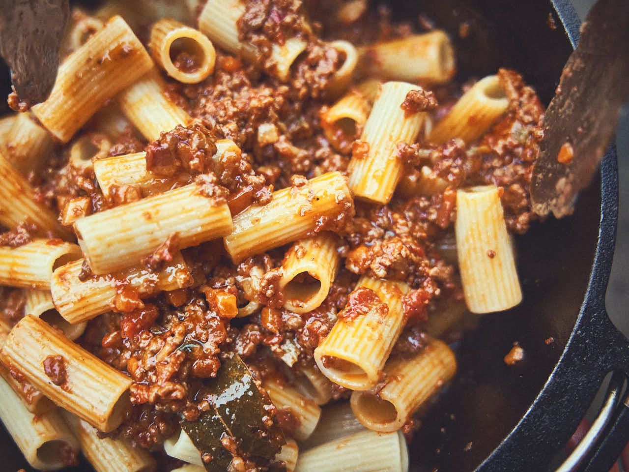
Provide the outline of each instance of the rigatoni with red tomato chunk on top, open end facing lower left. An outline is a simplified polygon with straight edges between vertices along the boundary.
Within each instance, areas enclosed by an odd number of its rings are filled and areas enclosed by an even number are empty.
[[[315,361],[334,383],[368,390],[378,382],[404,328],[402,297],[409,288],[403,282],[369,277],[362,277],[356,286],[330,334],[315,349]],[[369,311],[356,316],[355,303]]]

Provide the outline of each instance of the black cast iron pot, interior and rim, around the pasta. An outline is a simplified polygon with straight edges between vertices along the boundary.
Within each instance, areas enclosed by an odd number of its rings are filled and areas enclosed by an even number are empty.
[[[545,103],[579,38],[569,0],[403,0],[393,9],[401,18],[428,13],[447,29],[456,38],[461,77],[513,67]],[[469,35],[462,39],[464,22]],[[604,307],[617,211],[611,145],[600,176],[581,194],[574,215],[535,223],[518,238],[524,301],[509,312],[485,315],[457,343],[459,376],[409,445],[411,470],[545,471],[606,374],[615,372],[591,434],[562,466],[564,471],[610,468],[629,439],[629,402],[623,399],[629,343]],[[525,360],[506,366],[503,357],[516,341]],[[0,458],[1,470],[30,470],[3,429]],[[91,469],[83,463],[73,470]]]

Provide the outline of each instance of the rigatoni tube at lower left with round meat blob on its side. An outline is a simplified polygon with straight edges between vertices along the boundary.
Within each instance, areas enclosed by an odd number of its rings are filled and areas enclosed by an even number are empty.
[[[13,327],[0,361],[101,431],[116,429],[123,420],[131,379],[39,318],[26,315]]]

